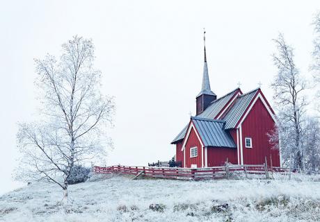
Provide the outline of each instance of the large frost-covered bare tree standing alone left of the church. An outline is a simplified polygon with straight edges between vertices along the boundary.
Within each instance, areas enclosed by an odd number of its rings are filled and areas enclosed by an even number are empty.
[[[17,133],[23,154],[19,175],[24,180],[54,182],[67,202],[68,178],[74,166],[103,157],[109,144],[113,99],[99,91],[101,72],[93,67],[91,40],[73,37],[63,53],[35,60],[40,94],[40,121],[20,123]]]

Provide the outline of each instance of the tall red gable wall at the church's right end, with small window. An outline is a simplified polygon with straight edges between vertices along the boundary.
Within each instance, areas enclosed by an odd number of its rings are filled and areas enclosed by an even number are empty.
[[[266,133],[273,130],[274,124],[262,101],[258,99],[241,126],[243,164],[263,164],[265,156],[268,164],[271,164],[271,155],[273,167],[280,167],[279,151],[271,149],[272,146],[269,143],[268,135],[266,135]],[[246,148],[246,137],[252,138],[253,148]]]

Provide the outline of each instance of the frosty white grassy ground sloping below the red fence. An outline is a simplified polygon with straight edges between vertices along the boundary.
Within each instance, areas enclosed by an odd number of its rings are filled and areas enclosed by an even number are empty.
[[[61,196],[56,185],[40,183],[5,194],[0,221],[320,221],[320,179],[312,176],[198,182],[113,176],[71,185],[69,214],[57,205]]]

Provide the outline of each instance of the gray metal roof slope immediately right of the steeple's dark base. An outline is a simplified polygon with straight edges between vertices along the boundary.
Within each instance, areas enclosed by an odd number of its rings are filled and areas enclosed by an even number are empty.
[[[230,101],[230,99],[232,99],[232,97],[234,96],[234,94],[237,92],[239,88],[234,89],[232,92],[229,92],[228,94],[226,94],[225,96],[222,96],[221,98],[213,101],[208,107],[207,109],[205,109],[205,111],[203,111],[202,113],[198,114],[197,117],[202,117],[202,118],[208,118],[208,119],[214,119],[216,117],[216,115],[221,112],[221,110],[225,107],[225,105],[227,104],[227,102]]]

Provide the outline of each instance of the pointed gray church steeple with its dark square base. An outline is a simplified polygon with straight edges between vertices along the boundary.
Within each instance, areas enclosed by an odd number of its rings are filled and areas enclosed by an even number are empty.
[[[203,42],[205,45],[205,31],[203,32]],[[202,88],[197,99],[197,115],[205,111],[205,109],[210,105],[212,101],[216,100],[216,94],[211,91],[208,65],[207,65],[207,53],[205,50],[205,64],[203,65],[203,74],[202,74]]]

